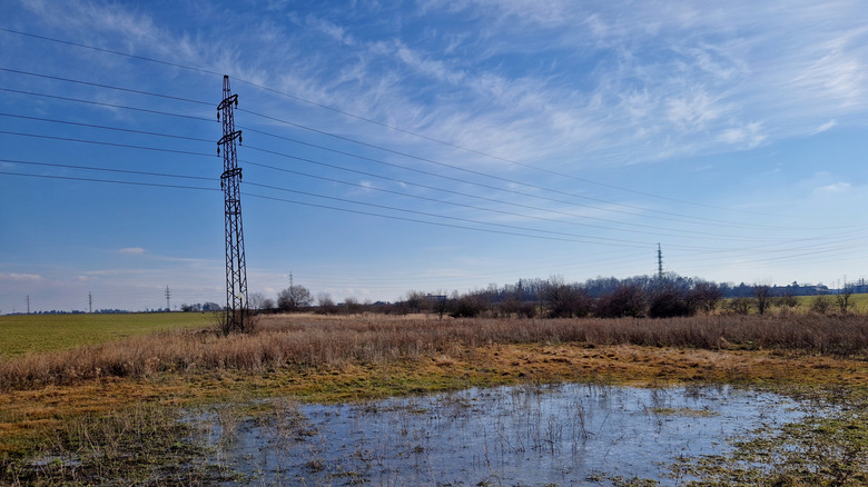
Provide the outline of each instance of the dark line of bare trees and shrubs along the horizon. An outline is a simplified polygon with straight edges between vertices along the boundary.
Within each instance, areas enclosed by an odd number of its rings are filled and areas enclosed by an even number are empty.
[[[795,308],[797,296],[813,296],[815,312],[852,311],[855,286],[845,286],[829,295],[822,286],[769,286],[717,284],[674,274],[662,279],[637,276],[627,279],[594,278],[583,284],[566,282],[561,277],[522,279],[514,285],[490,285],[460,294],[457,291],[410,291],[396,302],[359,302],[346,298],[335,302],[329,295],[316,299],[304,286],[293,286],[278,294],[277,301],[251,296],[253,309],[264,312],[314,311],[319,314],[381,312],[407,315],[436,314],[440,317],[523,317],[523,318],[671,318],[717,311],[763,315],[775,307]],[[809,290],[811,292],[803,292]],[[800,292],[801,291],[801,292]]]

